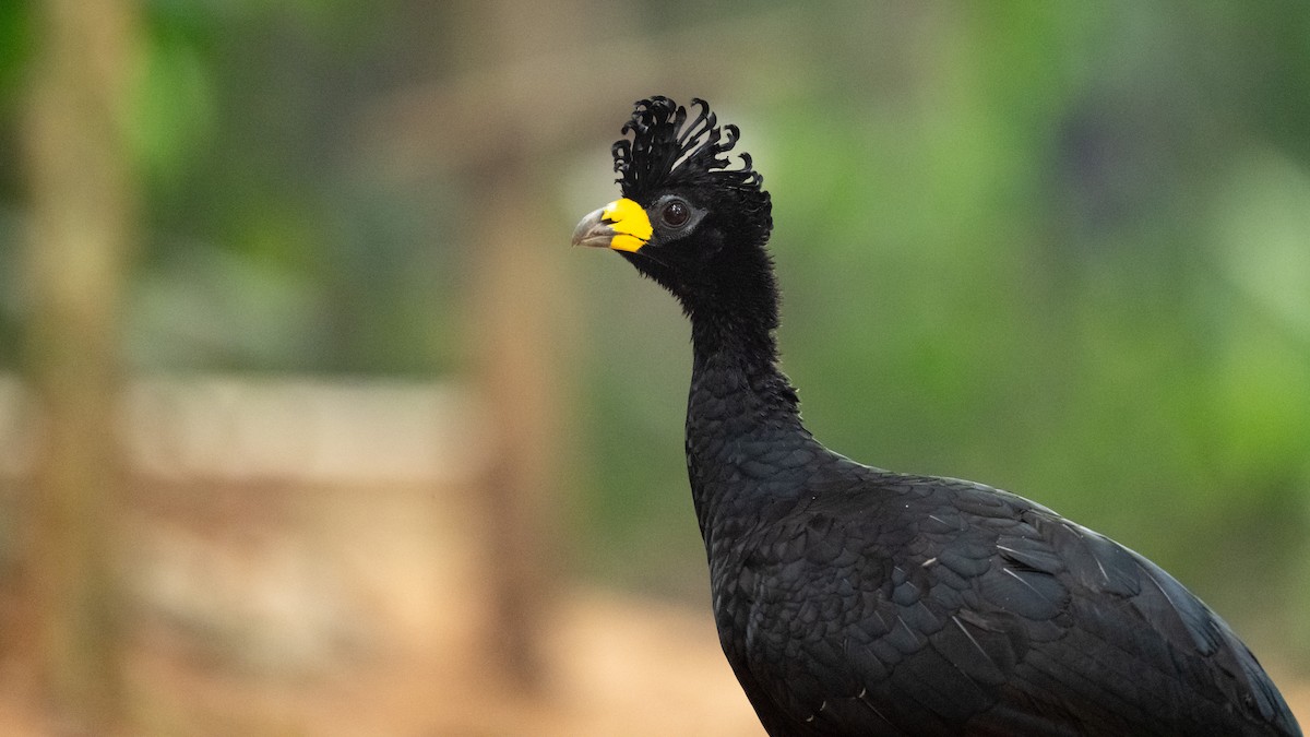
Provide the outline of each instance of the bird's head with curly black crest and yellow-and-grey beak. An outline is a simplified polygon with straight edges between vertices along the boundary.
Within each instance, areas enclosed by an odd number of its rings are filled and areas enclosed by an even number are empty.
[[[572,243],[617,250],[693,316],[753,292],[772,309],[769,193],[748,153],[730,160],[738,127],[720,127],[703,100],[692,106],[694,117],[667,97],[635,104],[613,146],[622,197],[583,218]]]

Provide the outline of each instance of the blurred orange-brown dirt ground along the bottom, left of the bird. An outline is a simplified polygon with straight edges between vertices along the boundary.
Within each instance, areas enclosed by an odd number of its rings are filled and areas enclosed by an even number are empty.
[[[506,687],[468,648],[373,653],[305,679],[234,675],[161,643],[134,648],[130,734],[587,737],[762,734],[707,615],[584,591],[548,628],[536,694]],[[59,734],[0,671],[0,736]]]

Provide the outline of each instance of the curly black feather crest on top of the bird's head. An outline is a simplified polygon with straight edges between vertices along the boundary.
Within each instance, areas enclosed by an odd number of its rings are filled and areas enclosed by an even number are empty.
[[[668,97],[656,96],[634,105],[633,117],[622,130],[624,135],[631,132],[633,139],[621,139],[613,147],[614,170],[620,174],[616,181],[624,197],[641,199],[656,188],[706,177],[741,194],[764,194],[764,177],[751,168],[749,153],[740,155],[740,169],[728,169],[727,153],[736,146],[738,127],[719,127],[703,100],[693,98],[692,105],[700,111],[690,122],[686,108]]]

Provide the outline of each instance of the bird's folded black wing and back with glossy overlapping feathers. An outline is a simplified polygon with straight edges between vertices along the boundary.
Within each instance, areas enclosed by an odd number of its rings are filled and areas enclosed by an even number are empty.
[[[1108,538],[968,481],[816,484],[753,536],[728,607],[782,732],[1298,734],[1229,627]]]

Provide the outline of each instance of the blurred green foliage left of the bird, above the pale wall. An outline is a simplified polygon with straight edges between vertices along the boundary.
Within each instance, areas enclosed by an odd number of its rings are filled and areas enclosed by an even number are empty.
[[[20,102],[33,8],[0,8],[7,365],[24,317]],[[453,185],[435,198],[397,190],[351,146],[371,106],[432,73],[422,35],[432,29],[403,10],[141,5],[140,81],[126,105],[144,190],[127,332],[136,368],[428,374],[453,362],[453,321],[432,316],[452,311],[458,252],[431,237]]]

